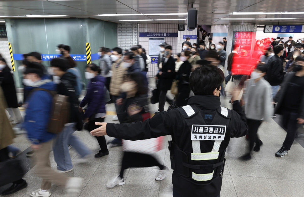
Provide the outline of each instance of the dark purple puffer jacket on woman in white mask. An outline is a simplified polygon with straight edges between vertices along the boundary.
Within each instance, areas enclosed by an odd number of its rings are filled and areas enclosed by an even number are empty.
[[[97,75],[87,85],[86,96],[80,103],[80,107],[84,107],[88,104],[85,117],[89,118],[93,113],[105,113],[106,103],[104,100],[104,85],[106,79],[100,75]]]

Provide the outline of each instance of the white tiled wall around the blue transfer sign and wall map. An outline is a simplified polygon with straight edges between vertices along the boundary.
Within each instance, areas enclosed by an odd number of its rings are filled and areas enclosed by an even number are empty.
[[[177,28],[177,24],[139,24],[139,32],[177,33]],[[165,37],[165,42],[172,46],[172,54],[176,54],[181,51],[177,45],[177,37]],[[146,49],[146,54],[149,54],[149,37],[139,37],[139,44]],[[155,76],[157,71],[157,64],[149,64],[147,77]]]

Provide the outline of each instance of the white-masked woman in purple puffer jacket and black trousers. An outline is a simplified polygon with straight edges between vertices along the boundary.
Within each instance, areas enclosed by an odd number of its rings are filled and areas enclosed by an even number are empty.
[[[88,130],[92,131],[98,126],[95,122],[104,122],[106,117],[106,101],[105,97],[105,82],[106,79],[100,76],[100,68],[96,64],[89,64],[85,72],[86,79],[89,80],[87,84],[86,96],[82,99],[79,106],[87,105],[84,113],[85,122],[88,122]],[[103,157],[109,154],[107,143],[104,136],[96,137],[100,146],[100,151],[95,154],[95,158]]]

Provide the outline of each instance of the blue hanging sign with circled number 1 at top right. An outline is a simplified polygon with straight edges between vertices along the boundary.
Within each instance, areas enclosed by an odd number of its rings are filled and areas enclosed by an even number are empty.
[[[304,25],[265,25],[264,33],[304,33]]]

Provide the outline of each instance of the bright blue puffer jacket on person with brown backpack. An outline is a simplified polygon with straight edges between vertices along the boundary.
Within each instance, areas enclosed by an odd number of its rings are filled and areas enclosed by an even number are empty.
[[[45,79],[35,83],[33,88],[44,88],[55,91],[56,86],[52,80]],[[33,91],[30,93],[25,111],[24,128],[28,138],[33,144],[48,142],[55,134],[47,131],[53,97],[47,91]]]

